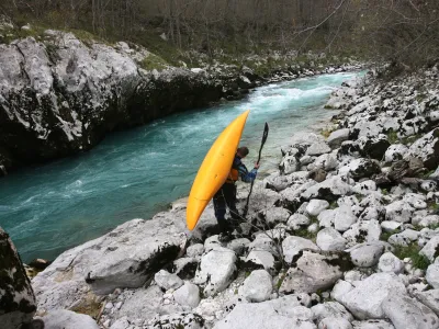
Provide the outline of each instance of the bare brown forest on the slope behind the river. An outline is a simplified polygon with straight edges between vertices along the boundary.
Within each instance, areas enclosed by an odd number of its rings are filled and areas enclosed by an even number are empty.
[[[0,12],[18,26],[78,29],[153,48],[166,39],[210,56],[218,49],[315,50],[384,57],[404,67],[439,56],[439,1],[3,0]]]

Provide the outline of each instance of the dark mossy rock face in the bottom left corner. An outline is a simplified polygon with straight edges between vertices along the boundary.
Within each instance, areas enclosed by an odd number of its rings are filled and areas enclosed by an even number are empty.
[[[36,310],[31,281],[8,234],[0,227],[0,324],[15,329],[31,322]]]

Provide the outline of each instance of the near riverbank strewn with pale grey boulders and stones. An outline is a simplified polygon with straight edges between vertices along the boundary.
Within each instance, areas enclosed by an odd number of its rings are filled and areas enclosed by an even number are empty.
[[[439,328],[438,78],[346,82],[329,136],[288,140],[232,240],[212,205],[189,232],[178,201],[59,256],[32,281],[37,314],[65,328]]]

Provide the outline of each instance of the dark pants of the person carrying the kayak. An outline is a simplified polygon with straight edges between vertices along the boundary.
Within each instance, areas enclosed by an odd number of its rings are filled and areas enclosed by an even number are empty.
[[[230,211],[232,218],[239,218],[239,213],[236,208],[236,185],[229,183],[223,184],[213,196],[213,206],[215,208],[215,217],[218,222],[219,229],[225,231],[227,229],[227,222],[225,218],[227,207]]]

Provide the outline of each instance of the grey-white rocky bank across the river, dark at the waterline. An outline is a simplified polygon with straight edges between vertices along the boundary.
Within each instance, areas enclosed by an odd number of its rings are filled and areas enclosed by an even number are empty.
[[[9,35],[7,29],[0,24],[0,36]],[[0,43],[0,175],[88,150],[116,129],[243,98],[263,83],[361,67],[356,61],[325,67],[315,55],[312,65],[297,64],[296,54],[284,57],[289,65],[264,73],[202,60],[199,68],[182,63],[157,70],[151,63],[158,57],[140,46],[68,32],[46,30]],[[268,60],[255,61],[263,67]]]

